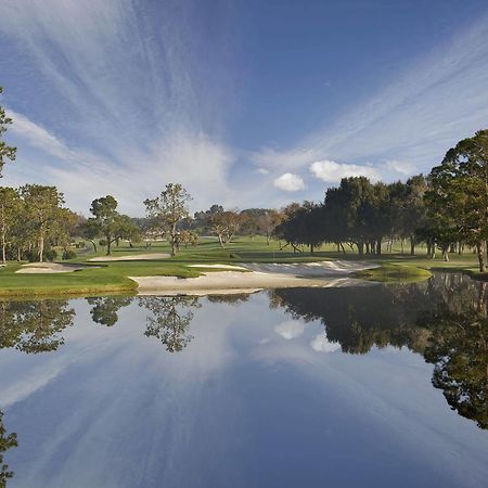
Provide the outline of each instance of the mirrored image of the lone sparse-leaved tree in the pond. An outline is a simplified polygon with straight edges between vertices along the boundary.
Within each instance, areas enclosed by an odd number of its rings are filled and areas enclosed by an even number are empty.
[[[169,352],[181,351],[193,338],[189,333],[192,309],[200,307],[191,296],[153,296],[139,298],[141,307],[151,310],[144,335],[157,337]]]

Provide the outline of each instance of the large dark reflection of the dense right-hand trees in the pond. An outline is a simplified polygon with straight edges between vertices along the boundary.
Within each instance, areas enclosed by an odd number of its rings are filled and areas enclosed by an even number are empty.
[[[360,290],[278,290],[271,306],[320,319],[343,351],[407,346],[434,364],[433,385],[451,408],[488,428],[488,318],[486,283],[460,274],[428,282]]]

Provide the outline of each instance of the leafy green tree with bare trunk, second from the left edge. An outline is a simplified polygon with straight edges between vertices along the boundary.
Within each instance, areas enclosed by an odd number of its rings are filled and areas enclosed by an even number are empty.
[[[46,240],[52,235],[55,226],[65,216],[62,209],[64,196],[55,187],[41,184],[26,184],[22,187],[21,195],[24,201],[28,222],[37,240],[37,256],[39,261],[42,262]]]

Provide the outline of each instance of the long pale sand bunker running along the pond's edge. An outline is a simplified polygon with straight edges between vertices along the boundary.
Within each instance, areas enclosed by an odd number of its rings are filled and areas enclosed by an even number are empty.
[[[362,269],[376,268],[377,266],[358,261],[242,265],[242,269],[251,272],[215,271],[204,273],[198,278],[187,279],[177,277],[129,278],[138,283],[138,291],[141,295],[252,293],[264,288],[336,287],[364,284],[365,282],[348,278],[347,274]],[[274,270],[274,272],[270,270]]]

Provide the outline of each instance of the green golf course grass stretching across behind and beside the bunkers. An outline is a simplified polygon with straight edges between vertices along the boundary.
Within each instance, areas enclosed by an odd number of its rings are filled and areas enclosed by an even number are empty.
[[[89,264],[88,259],[103,256],[105,251],[93,253],[86,249],[72,264]],[[151,247],[145,245],[129,247],[123,243],[114,247],[114,256],[131,254],[169,253],[167,243],[154,242]],[[474,254],[462,256],[453,255],[449,262],[440,259],[429,260],[425,249],[420,247],[418,256],[408,256],[400,253],[399,244],[393,253],[381,256],[364,257],[382,265],[381,268],[358,273],[357,275],[374,281],[414,281],[429,275],[428,270],[451,270],[470,272],[476,275],[476,257]],[[21,268],[17,262],[10,262],[0,268],[0,296],[39,296],[39,295],[94,295],[106,293],[134,293],[137,284],[128,277],[176,275],[180,278],[198,277],[202,272],[217,269],[191,268],[189,265],[236,265],[240,262],[310,262],[331,259],[358,259],[357,253],[347,249],[346,254],[337,253],[333,246],[322,246],[313,255],[308,252],[294,254],[287,249],[280,251],[278,242],[267,245],[262,237],[242,237],[230,243],[221,249],[216,239],[203,237],[196,247],[182,248],[181,252],[169,259],[134,260],[97,262],[80,271],[59,274],[18,274]]]

